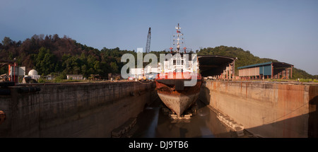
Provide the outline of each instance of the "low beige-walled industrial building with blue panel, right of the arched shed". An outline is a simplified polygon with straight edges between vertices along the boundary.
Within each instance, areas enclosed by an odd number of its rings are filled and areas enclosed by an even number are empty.
[[[292,78],[293,65],[284,62],[265,62],[237,67],[241,79]]]

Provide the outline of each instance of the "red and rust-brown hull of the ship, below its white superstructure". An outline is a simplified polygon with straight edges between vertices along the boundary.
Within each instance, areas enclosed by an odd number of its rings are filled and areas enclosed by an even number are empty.
[[[168,78],[168,77],[172,78]],[[176,78],[179,76],[179,78]],[[187,78],[185,78],[187,77]],[[194,81],[192,86],[184,86],[185,81]],[[178,116],[196,103],[201,88],[201,75],[189,78],[189,73],[158,74],[155,80],[156,90],[163,103]]]

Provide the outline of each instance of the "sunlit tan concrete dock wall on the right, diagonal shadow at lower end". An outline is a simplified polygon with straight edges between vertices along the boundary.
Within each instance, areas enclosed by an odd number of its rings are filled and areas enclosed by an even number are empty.
[[[199,97],[262,137],[318,137],[318,85],[206,81]]]

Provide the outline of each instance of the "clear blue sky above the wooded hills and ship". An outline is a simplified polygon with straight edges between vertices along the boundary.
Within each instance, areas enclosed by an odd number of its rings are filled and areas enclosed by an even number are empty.
[[[180,23],[185,47],[241,47],[318,74],[318,1],[0,0],[0,40],[64,35],[83,45],[136,50],[171,46]]]

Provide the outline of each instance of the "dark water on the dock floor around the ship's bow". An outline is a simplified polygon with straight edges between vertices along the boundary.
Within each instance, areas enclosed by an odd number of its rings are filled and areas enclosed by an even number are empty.
[[[129,131],[134,138],[231,138],[235,132],[226,128],[216,113],[201,101],[196,103],[196,112],[189,120],[172,120],[162,110],[162,102],[156,100],[137,117],[134,128]]]

